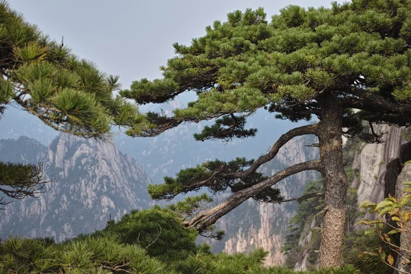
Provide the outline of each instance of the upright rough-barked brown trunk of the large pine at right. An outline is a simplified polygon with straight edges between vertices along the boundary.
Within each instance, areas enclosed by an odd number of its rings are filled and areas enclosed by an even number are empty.
[[[347,177],[343,168],[343,108],[334,95],[323,95],[319,130],[325,184],[325,214],[321,233],[320,266],[340,266],[345,232]]]

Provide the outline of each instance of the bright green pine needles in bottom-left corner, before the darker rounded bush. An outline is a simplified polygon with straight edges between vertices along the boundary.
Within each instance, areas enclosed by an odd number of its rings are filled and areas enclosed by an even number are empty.
[[[115,234],[49,239],[9,238],[0,245],[0,273],[164,273],[166,266]]]

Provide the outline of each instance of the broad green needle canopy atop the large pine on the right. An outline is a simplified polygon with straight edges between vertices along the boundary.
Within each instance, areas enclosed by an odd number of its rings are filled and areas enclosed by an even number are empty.
[[[164,103],[188,90],[199,95],[173,117],[147,115],[151,128],[130,134],[154,136],[183,121],[223,116],[232,131],[223,134],[216,126],[202,139],[239,136],[243,116],[259,108],[292,121],[310,119],[325,92],[346,108],[364,110],[362,119],[409,125],[410,107],[399,105],[411,97],[410,6],[399,0],[356,0],[330,9],[290,5],[271,22],[262,8],[228,14],[190,46],[175,43],[177,55],[161,67],[163,79],[142,79],[121,92],[140,104]]]

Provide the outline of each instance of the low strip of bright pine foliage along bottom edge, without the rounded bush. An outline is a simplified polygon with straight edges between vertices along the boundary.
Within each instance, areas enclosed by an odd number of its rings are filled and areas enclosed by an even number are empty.
[[[186,258],[166,264],[138,245],[125,245],[119,236],[100,234],[56,244],[53,240],[9,238],[0,245],[0,273],[171,273],[171,274],[350,274],[351,266],[295,272],[263,266],[266,252],[212,254],[199,249]]]

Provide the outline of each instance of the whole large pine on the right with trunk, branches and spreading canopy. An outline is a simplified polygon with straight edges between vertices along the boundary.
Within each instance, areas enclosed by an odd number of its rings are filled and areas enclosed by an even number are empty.
[[[325,183],[321,266],[338,266],[347,192],[341,137],[378,142],[381,133],[373,124],[410,125],[411,1],[353,0],[307,9],[289,5],[271,23],[262,8],[227,17],[206,27],[206,35],[191,45],[173,45],[177,56],[161,67],[163,79],[141,79],[121,92],[139,104],[164,103],[190,90],[198,95],[172,116],[148,113],[151,125],[129,134],[155,136],[180,123],[216,119],[195,138],[246,138],[256,129],[245,129],[245,121],[260,108],[290,121],[314,115],[319,123],[291,129],[257,160],[210,161],[166,177],[164,184],[150,186],[151,196],[172,199],[199,188],[233,190],[223,203],[187,223],[201,231],[249,198],[281,202],[272,188],[277,182],[301,171],[319,171]],[[304,134],[318,136],[319,160],[271,177],[256,172],[288,140]]]

